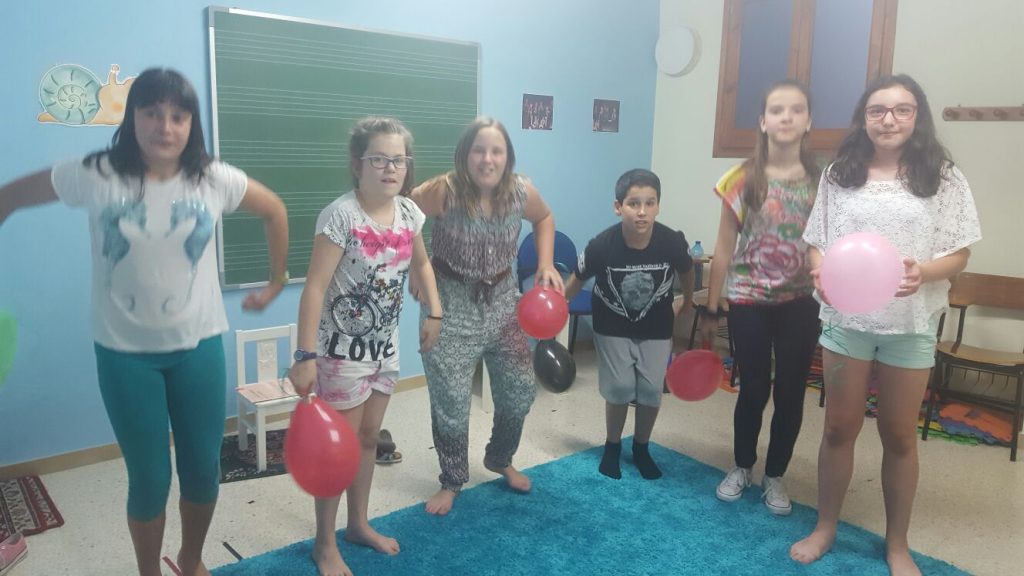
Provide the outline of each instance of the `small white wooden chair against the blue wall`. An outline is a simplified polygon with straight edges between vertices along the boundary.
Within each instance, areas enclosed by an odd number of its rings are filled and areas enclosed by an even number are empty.
[[[236,330],[234,348],[238,372],[239,449],[249,449],[249,431],[256,436],[256,469],[266,469],[266,417],[291,412],[299,397],[291,380],[282,376],[279,364],[279,342],[288,338],[288,357],[284,366],[292,365],[292,355],[298,345],[298,330],[294,324]],[[246,343],[256,343],[256,377],[246,376]]]

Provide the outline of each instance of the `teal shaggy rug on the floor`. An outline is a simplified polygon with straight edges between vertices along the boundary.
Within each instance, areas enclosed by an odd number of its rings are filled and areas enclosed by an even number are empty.
[[[793,562],[790,545],[814,527],[813,508],[795,503],[788,518],[774,517],[756,488],[738,502],[720,502],[720,470],[653,443],[650,451],[660,480],[641,479],[628,447],[623,479],[607,479],[597,471],[601,449],[586,450],[530,468],[529,495],[495,481],[464,491],[447,517],[427,515],[420,503],[374,520],[400,542],[396,557],[353,546],[339,532],[341,553],[356,576],[889,574],[883,539],[848,524],[823,559]],[[312,540],[298,542],[213,573],[314,576],[311,547]],[[914,559],[929,576],[967,574]]]

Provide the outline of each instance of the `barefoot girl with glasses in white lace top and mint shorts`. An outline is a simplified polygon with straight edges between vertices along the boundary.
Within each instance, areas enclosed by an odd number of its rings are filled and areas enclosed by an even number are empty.
[[[904,258],[904,274],[887,305],[844,315],[827,305],[818,273],[828,246],[856,232],[887,238]],[[921,574],[907,542],[918,485],[918,413],[934,364],[937,320],[948,304],[949,278],[964,270],[968,247],[980,239],[971,189],[936,139],[921,86],[904,75],[877,80],[857,102],[837,160],[821,176],[804,232],[811,275],[825,304],[820,341],[828,402],[818,454],[818,522],[793,545],[794,560],[816,561],[836,538],[873,369],[886,561],[894,575]]]

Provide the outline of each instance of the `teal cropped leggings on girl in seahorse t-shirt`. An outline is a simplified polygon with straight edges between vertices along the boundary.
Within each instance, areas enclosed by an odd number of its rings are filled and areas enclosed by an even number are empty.
[[[171,490],[171,449],[181,498],[217,500],[224,436],[224,347],[219,335],[193,349],[123,353],[96,347],[99,392],[128,467],[128,517],[164,512]]]

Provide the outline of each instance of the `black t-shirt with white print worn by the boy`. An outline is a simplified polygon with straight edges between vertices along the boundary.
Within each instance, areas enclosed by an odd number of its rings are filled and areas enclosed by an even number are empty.
[[[616,223],[594,237],[580,254],[575,275],[595,278],[594,332],[663,340],[672,337],[672,281],[693,265],[682,232],[654,222],[643,250],[626,245]]]

